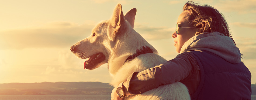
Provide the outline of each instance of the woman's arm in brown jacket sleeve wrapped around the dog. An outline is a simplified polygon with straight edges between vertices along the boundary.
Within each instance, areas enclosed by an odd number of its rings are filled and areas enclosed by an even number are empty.
[[[189,78],[196,67],[197,62],[189,53],[177,55],[174,59],[164,64],[146,69],[142,72],[134,72],[123,83],[127,89],[126,95],[142,94],[160,85],[171,84]]]

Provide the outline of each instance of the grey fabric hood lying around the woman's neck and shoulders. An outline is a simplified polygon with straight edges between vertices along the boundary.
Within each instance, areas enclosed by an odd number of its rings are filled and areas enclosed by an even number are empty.
[[[181,47],[181,53],[193,50],[209,51],[233,64],[241,61],[241,53],[233,40],[220,32],[195,35]]]

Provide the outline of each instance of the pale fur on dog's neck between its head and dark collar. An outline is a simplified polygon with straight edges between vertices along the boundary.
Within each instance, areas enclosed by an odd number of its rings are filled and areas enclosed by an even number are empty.
[[[108,60],[109,73],[111,76],[114,76],[115,73],[123,67],[127,57],[136,54],[136,51],[142,49],[143,46],[149,47],[153,53],[158,54],[157,50],[134,29],[131,28],[128,30],[130,31],[117,35],[115,39],[116,44],[113,50],[111,50],[112,53],[110,53]]]

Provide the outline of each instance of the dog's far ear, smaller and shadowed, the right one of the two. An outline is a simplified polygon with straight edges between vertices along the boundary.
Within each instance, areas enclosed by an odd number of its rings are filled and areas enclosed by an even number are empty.
[[[124,14],[124,19],[127,20],[132,28],[134,27],[134,20],[135,20],[135,15],[136,15],[137,9],[133,8],[129,10],[126,14]]]

